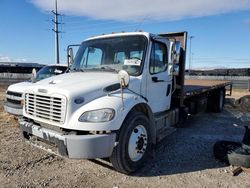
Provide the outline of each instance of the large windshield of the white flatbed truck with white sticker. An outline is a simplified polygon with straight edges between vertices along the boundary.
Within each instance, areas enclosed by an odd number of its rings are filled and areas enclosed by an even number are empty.
[[[147,40],[144,36],[119,36],[85,41],[79,48],[71,71],[126,70],[141,73]]]

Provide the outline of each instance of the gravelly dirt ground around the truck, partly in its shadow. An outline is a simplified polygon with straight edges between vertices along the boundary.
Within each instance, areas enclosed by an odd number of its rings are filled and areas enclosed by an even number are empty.
[[[245,94],[236,91],[233,97]],[[216,141],[243,137],[242,122],[227,109],[190,118],[157,146],[144,168],[128,176],[104,160],[61,158],[24,142],[17,121],[3,111],[3,99],[0,89],[0,187],[250,187],[249,173],[232,176],[234,167],[213,157]]]

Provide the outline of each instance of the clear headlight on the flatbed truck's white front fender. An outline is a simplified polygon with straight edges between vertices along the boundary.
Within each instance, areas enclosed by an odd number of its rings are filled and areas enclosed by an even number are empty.
[[[99,110],[84,112],[79,121],[81,122],[106,122],[111,121],[115,116],[115,110],[104,108]]]

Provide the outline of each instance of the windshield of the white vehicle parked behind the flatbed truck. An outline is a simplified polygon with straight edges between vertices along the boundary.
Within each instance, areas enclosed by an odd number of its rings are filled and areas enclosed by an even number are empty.
[[[67,67],[63,66],[45,66],[37,72],[36,81],[62,74],[66,71]]]

